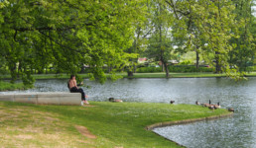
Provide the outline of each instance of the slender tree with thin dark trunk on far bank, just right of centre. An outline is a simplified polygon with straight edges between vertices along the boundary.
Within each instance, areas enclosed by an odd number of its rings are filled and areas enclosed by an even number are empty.
[[[149,46],[147,54],[149,57],[154,57],[161,61],[163,70],[166,72],[166,77],[169,77],[168,60],[171,57],[171,52],[174,49],[172,44],[171,27],[173,16],[167,8],[164,1],[157,0],[152,2],[152,26],[153,31],[149,38]]]

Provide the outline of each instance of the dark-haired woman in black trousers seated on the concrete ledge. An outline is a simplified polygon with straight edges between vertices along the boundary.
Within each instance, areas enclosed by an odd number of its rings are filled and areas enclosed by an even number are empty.
[[[70,79],[69,79],[69,90],[70,90],[71,93],[81,93],[81,101],[82,101],[82,103],[89,104],[86,101],[87,96],[85,95],[83,90],[81,88],[77,87],[74,75],[70,76]]]

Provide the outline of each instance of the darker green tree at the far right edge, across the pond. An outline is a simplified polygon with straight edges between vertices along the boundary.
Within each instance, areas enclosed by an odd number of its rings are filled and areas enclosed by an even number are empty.
[[[239,22],[232,32],[237,35],[230,39],[233,50],[229,52],[229,62],[239,68],[239,71],[249,70],[247,67],[253,64],[255,54],[255,37],[253,37],[252,0],[233,0],[235,5],[235,20]]]

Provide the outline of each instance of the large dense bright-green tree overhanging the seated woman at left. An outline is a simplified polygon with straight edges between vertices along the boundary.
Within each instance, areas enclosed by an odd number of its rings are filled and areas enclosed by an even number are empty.
[[[92,78],[103,83],[105,63],[118,69],[134,56],[124,49],[132,45],[138,3],[140,0],[1,1],[0,54],[13,81],[17,67],[24,78],[31,78],[27,76],[33,69],[42,71],[52,63],[59,72],[72,74],[80,71],[81,64],[90,65]]]

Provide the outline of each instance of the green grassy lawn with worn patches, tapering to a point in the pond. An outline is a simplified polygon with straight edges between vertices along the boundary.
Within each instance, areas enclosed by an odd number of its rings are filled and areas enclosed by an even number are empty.
[[[0,102],[4,147],[163,148],[180,147],[145,129],[147,125],[228,113],[193,105],[90,102],[89,107]],[[84,136],[86,127],[96,138]]]

